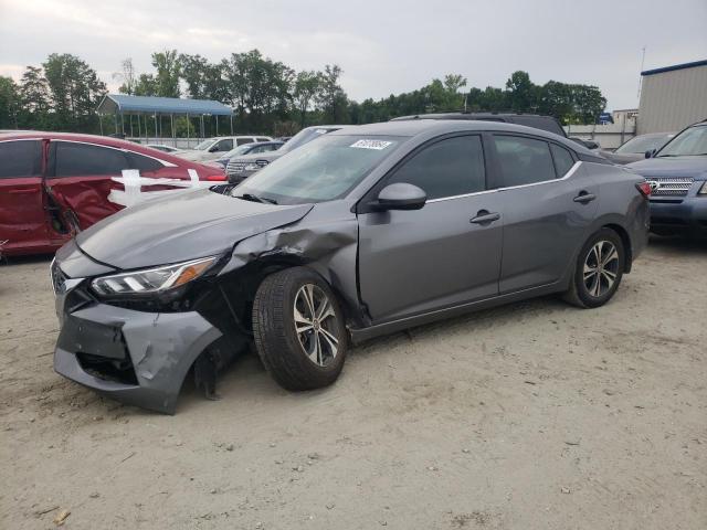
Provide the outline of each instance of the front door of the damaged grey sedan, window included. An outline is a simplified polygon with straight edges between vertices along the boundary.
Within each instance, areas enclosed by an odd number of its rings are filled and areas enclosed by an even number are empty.
[[[372,193],[394,182],[422,188],[428,202],[358,216],[360,295],[373,322],[497,296],[503,220],[481,135],[423,146]]]

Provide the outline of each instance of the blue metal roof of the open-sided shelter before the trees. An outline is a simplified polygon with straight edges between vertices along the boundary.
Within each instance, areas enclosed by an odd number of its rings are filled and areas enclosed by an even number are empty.
[[[179,97],[128,96],[106,94],[98,104],[99,114],[194,114],[231,116],[233,109],[211,99],[182,99]]]

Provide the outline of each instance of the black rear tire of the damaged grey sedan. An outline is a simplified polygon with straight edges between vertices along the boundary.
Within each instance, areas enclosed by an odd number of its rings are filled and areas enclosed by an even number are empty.
[[[611,246],[616,251],[615,259],[610,259],[605,265],[595,265],[598,254],[595,248],[602,248],[599,254],[603,254],[602,261],[610,255]],[[588,265],[585,273],[584,265]],[[600,307],[606,304],[621,284],[621,278],[625,271],[626,253],[621,236],[611,229],[601,229],[594,233],[582,246],[574,266],[574,274],[570,283],[570,288],[564,293],[564,300],[583,308]],[[604,268],[605,267],[605,268]],[[592,271],[595,271],[592,273]],[[585,278],[587,274],[587,278]],[[613,276],[613,283],[611,278]],[[599,286],[597,284],[599,282]]]

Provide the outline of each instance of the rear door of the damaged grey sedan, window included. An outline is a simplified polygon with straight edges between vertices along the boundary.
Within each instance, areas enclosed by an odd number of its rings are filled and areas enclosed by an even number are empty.
[[[499,292],[558,282],[588,236],[599,186],[559,144],[520,135],[492,138],[504,205]]]

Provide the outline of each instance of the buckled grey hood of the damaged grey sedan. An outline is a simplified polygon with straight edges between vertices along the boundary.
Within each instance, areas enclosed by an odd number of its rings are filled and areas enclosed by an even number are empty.
[[[103,264],[143,268],[223,253],[309,210],[312,204],[263,204],[210,190],[186,191],[106,218],[80,233],[76,243]]]

